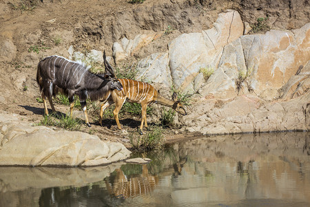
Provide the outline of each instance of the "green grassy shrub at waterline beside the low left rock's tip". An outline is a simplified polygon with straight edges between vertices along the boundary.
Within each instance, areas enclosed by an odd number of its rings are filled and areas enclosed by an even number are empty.
[[[132,149],[136,152],[160,150],[163,148],[163,131],[160,126],[151,126],[145,135],[131,134],[130,144]]]

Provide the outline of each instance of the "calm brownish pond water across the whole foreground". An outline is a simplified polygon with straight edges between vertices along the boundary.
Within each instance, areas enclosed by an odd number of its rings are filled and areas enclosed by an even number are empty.
[[[203,137],[147,165],[0,168],[0,206],[310,206],[310,133]]]

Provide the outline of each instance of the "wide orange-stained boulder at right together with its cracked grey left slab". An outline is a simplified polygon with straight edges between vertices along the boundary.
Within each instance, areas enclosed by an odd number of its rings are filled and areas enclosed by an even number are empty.
[[[310,23],[298,30],[271,30],[266,34],[242,36],[223,50],[218,69],[198,90],[200,95],[213,95],[220,99],[235,97],[238,92],[254,91],[262,99],[271,101],[289,79],[282,93],[296,88],[305,81],[307,86],[310,57]],[[298,72],[298,68],[303,68]],[[299,74],[300,73],[300,74]]]

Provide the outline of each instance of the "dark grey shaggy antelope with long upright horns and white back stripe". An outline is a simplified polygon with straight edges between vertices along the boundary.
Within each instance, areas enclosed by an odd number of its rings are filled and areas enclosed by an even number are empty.
[[[122,84],[116,79],[112,66],[105,58],[105,74],[96,75],[90,72],[90,66],[70,61],[64,57],[50,56],[38,64],[37,82],[40,86],[45,115],[48,115],[46,98],[55,112],[52,97],[59,92],[68,95],[70,101],[70,117],[74,107],[74,95],[78,95],[85,116],[85,124],[90,126],[87,117],[86,99],[105,101],[112,90],[123,90]]]

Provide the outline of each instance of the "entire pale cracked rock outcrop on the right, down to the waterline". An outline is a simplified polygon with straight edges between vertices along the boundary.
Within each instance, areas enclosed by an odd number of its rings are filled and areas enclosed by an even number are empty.
[[[170,71],[154,67],[152,55],[141,60],[140,69],[156,83],[171,87],[169,76],[178,90],[196,93],[192,112],[178,120],[190,132],[309,130],[310,23],[265,34],[242,32],[238,12],[219,14],[213,28],[169,43],[161,68]],[[204,80],[200,68],[214,72]]]

